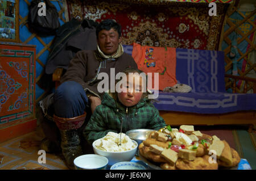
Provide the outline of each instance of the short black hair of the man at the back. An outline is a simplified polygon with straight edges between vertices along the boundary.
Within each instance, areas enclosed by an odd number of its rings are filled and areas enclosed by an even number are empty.
[[[100,24],[98,24],[96,28],[97,39],[98,39],[98,33],[100,33],[101,30],[109,31],[111,28],[113,28],[115,31],[118,32],[118,37],[121,36],[121,25],[115,22],[115,20],[113,19],[105,19],[102,22],[100,22]]]

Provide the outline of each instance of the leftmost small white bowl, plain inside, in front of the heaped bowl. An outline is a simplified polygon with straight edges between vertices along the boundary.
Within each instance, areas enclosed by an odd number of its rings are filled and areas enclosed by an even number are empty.
[[[74,159],[76,170],[104,170],[108,162],[108,158],[97,154],[85,154]]]

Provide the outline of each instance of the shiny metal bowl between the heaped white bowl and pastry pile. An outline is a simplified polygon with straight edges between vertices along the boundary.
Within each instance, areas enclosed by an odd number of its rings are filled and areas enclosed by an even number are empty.
[[[146,140],[150,133],[155,131],[154,129],[131,129],[127,131],[125,134],[129,136],[132,140],[136,141],[139,144],[142,141]]]

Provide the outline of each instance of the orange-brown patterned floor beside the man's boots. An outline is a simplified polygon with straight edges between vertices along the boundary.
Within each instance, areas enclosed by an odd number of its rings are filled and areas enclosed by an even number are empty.
[[[66,170],[61,154],[46,153],[46,163],[43,154],[39,153],[40,142],[43,139],[39,132],[31,132],[12,140],[0,143],[1,170]],[[39,161],[39,162],[38,162]],[[41,163],[40,163],[41,162]]]

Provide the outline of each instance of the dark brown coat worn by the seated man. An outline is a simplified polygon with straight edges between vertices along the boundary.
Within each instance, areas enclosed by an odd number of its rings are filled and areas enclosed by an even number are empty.
[[[97,86],[101,79],[97,79],[99,73],[106,73],[109,77],[110,89],[110,68],[114,68],[115,75],[126,68],[138,68],[133,57],[127,53],[123,53],[121,57],[114,60],[102,60],[96,58],[97,50],[81,50],[69,64],[67,72],[61,77],[61,83],[65,81],[75,81],[84,87],[86,93],[94,94],[100,98],[104,92],[98,92]],[[106,90],[108,90],[106,89]]]

